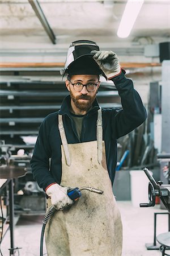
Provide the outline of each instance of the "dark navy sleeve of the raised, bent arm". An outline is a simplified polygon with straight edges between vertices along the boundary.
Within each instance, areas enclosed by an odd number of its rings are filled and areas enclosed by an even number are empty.
[[[112,118],[113,137],[120,138],[137,128],[147,118],[141,97],[133,87],[133,81],[127,79],[124,72],[112,79],[121,97],[122,110]]]

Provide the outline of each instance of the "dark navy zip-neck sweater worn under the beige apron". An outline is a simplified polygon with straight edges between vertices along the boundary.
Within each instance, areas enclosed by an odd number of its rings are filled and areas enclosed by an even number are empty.
[[[141,125],[145,121],[147,114],[141,97],[133,88],[133,82],[127,79],[123,72],[121,75],[114,77],[112,81],[121,97],[123,108],[120,111],[116,111],[114,108],[102,109],[103,140],[105,142],[107,167],[109,177],[113,183],[117,164],[117,139]],[[61,138],[58,131],[58,114],[63,115],[67,142],[72,144],[96,141],[98,109],[99,105],[95,99],[93,108],[84,115],[80,139],[76,133],[75,122],[71,118],[70,96],[63,100],[61,109],[58,112],[49,114],[41,123],[31,159],[33,177],[41,188],[45,190],[49,184],[54,182],[60,184],[61,182]],[[51,158],[50,171],[49,158]]]

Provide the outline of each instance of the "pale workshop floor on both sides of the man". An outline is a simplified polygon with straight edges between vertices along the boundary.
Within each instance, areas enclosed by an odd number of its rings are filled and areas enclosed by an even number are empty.
[[[131,201],[118,201],[124,226],[124,246],[122,256],[160,256],[159,250],[147,250],[145,243],[154,242],[154,212],[167,212],[159,205],[149,208],[135,208]],[[43,216],[21,216],[15,226],[16,256],[39,256],[40,234]],[[168,232],[168,214],[158,215],[156,234]],[[1,243],[3,256],[8,256],[10,232]],[[44,246],[44,255],[46,254]],[[57,256],[57,255],[56,255]],[[81,255],[79,255],[81,256]],[[102,255],[104,256],[104,255]],[[109,255],[105,255],[109,256]]]

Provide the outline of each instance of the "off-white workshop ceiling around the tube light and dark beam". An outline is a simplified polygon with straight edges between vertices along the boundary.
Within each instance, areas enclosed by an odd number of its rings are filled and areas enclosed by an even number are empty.
[[[76,39],[95,40],[102,47],[109,44],[151,44],[170,38],[170,1],[146,0],[129,38],[117,37],[117,29],[126,1],[42,1],[42,11],[56,36],[57,44],[68,47]],[[37,37],[52,46],[42,24],[27,0],[0,0],[1,38]],[[133,12],[133,10],[131,10]],[[14,45],[15,48],[15,45]]]

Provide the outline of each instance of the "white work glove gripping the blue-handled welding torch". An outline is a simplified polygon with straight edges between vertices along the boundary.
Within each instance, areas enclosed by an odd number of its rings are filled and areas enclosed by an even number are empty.
[[[73,204],[73,200],[67,196],[68,189],[69,188],[67,187],[61,187],[57,183],[50,185],[46,189],[46,195],[51,198],[52,205],[54,205],[57,210],[63,210],[64,208]]]

